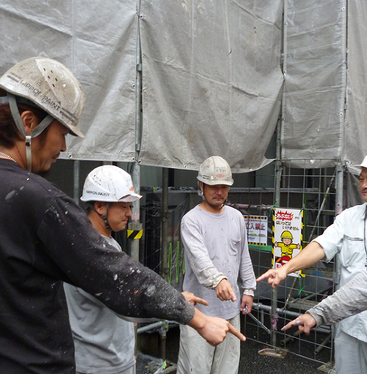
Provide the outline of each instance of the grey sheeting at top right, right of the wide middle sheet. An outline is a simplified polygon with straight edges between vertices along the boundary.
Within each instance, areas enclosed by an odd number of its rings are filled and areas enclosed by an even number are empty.
[[[367,154],[367,2],[284,4],[282,159],[359,164]]]

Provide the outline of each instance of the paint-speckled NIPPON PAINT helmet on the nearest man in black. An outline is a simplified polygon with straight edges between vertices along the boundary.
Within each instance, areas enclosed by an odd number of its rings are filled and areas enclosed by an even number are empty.
[[[0,77],[0,87],[28,99],[73,135],[84,137],[77,128],[85,104],[84,92],[74,74],[59,61],[46,57],[23,60]]]

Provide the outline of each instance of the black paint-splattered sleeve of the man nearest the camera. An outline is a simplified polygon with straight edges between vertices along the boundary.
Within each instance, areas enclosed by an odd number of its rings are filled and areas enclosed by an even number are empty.
[[[72,199],[57,198],[37,230],[40,270],[80,287],[115,312],[187,324],[194,307],[160,275],[117,251]]]

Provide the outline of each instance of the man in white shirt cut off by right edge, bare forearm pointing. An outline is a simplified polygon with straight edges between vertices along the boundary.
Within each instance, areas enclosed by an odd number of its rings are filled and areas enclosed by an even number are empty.
[[[367,156],[360,165],[359,192],[367,202]],[[293,271],[307,268],[319,260],[329,262],[338,253],[341,263],[340,286],[367,267],[366,243],[367,204],[344,210],[324,233],[308,244],[285,265],[270,269],[257,278],[268,278],[276,287]],[[338,374],[367,372],[367,312],[362,312],[338,323],[335,337],[335,368]]]

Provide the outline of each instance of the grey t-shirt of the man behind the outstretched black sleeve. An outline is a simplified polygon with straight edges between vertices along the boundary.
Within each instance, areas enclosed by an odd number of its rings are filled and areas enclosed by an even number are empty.
[[[104,237],[121,251],[113,239]],[[135,364],[133,322],[119,318],[82,289],[64,283],[77,371],[111,374]]]

